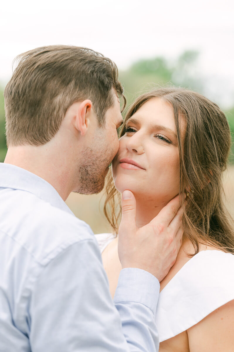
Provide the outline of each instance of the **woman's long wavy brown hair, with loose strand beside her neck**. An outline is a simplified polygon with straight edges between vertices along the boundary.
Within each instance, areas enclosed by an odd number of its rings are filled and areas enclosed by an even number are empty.
[[[139,96],[129,107],[120,137],[125,133],[127,120],[154,98],[163,99],[173,108],[180,158],[179,194],[191,189],[186,201],[181,197],[184,238],[191,241],[194,254],[198,253],[201,243],[234,253],[233,219],[223,204],[222,174],[227,168],[231,144],[225,114],[199,93],[176,87],[158,88]],[[184,142],[179,124],[181,117],[186,122]],[[104,213],[115,234],[118,233],[120,204],[120,193],[109,173]]]

